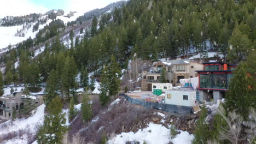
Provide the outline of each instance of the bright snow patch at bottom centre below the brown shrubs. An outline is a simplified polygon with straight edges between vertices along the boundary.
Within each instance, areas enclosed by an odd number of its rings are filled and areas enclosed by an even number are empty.
[[[171,139],[170,129],[167,129],[161,124],[149,123],[147,128],[139,129],[136,133],[129,132],[116,135],[108,143],[125,144],[127,141],[138,141],[139,143],[165,144],[172,141],[174,144],[190,144],[193,139],[194,136],[187,131],[181,131],[174,139]]]

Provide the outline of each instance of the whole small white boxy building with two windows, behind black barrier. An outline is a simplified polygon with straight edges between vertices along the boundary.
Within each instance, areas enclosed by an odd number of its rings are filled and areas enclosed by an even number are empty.
[[[165,92],[165,103],[181,106],[195,106],[196,91],[191,87],[179,87]]]

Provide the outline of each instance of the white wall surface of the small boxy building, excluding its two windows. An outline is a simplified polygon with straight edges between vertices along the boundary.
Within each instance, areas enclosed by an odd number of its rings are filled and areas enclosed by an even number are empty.
[[[171,99],[167,98],[171,94]],[[183,95],[188,95],[188,100],[183,100]],[[171,105],[194,106],[196,100],[196,91],[172,91],[165,92],[165,103]]]

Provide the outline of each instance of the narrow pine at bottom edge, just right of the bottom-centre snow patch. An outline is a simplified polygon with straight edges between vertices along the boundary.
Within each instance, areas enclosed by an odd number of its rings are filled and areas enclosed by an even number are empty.
[[[201,115],[199,119],[197,119],[196,122],[196,128],[195,128],[195,139],[193,140],[193,143],[207,143],[207,140],[210,139],[210,133],[208,131],[208,124],[206,122],[207,117],[207,109],[206,106],[203,105],[201,108]]]

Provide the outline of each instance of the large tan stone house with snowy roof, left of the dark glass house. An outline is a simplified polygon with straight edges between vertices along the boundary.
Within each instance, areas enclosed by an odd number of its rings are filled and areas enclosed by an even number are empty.
[[[160,82],[162,69],[166,71],[166,81],[177,86],[181,79],[197,77],[195,70],[203,70],[203,64],[188,59],[154,62],[149,71],[142,71],[142,91],[152,91],[152,83]]]

